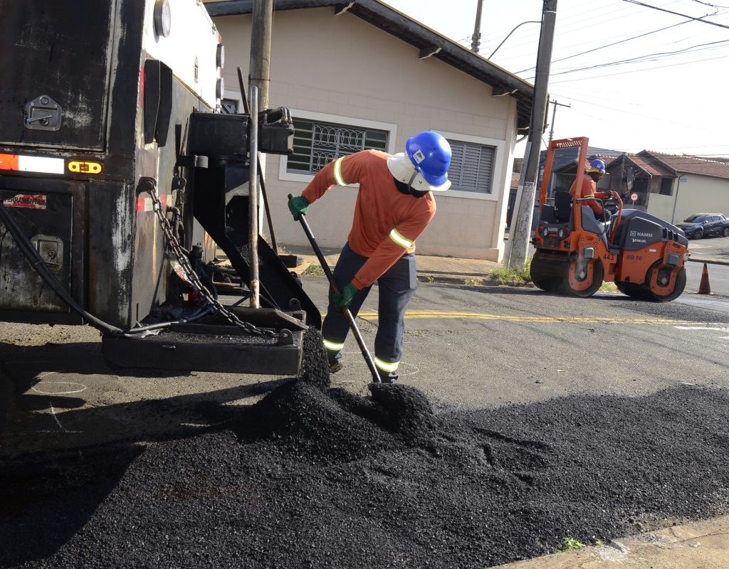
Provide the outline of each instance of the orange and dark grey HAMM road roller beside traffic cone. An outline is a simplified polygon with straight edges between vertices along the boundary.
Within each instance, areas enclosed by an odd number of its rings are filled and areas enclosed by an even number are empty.
[[[688,240],[678,227],[634,209],[623,209],[617,192],[608,200],[582,198],[569,192],[547,196],[555,152],[578,148],[577,188],[587,174],[581,167],[588,138],[550,142],[539,190],[539,222],[534,232],[536,252],[531,259],[531,280],[540,289],[575,297],[590,297],[602,283],[636,299],[667,302],[677,299],[686,286]],[[589,201],[604,202],[613,211],[606,222],[595,219]]]

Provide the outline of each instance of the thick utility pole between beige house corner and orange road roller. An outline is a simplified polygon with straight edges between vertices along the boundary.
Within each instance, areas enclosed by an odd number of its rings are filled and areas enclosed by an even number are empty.
[[[534,99],[531,105],[529,124],[529,141],[524,157],[523,187],[516,218],[509,267],[523,269],[529,251],[531,236],[531,216],[534,213],[534,194],[537,187],[537,170],[539,170],[539,149],[542,146],[545,116],[547,114],[547,86],[549,70],[552,63],[552,44],[554,24],[557,17],[557,0],[544,0],[542,7],[542,31],[539,34],[537,51],[537,75],[534,78]],[[512,240],[510,236],[509,240]]]

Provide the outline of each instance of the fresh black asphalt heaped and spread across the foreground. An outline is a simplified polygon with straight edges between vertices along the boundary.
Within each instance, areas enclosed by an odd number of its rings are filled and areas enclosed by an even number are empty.
[[[727,390],[371,387],[290,380],[188,438],[4,460],[0,566],[484,568],[729,511]]]

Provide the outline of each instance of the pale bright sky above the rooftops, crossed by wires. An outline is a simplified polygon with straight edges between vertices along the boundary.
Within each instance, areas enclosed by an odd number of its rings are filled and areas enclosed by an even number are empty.
[[[381,1],[471,47],[478,0]],[[541,26],[519,24],[542,6],[483,0],[480,55],[533,83]],[[558,0],[548,90],[569,107],[553,120],[547,106],[542,148],[553,128],[622,152],[729,157],[728,76],[729,0]]]

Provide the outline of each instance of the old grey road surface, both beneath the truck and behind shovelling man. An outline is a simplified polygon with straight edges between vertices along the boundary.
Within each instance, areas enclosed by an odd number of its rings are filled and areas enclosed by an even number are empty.
[[[323,310],[326,280],[305,276],[304,284]],[[375,287],[358,319],[370,347],[376,310]],[[729,387],[729,299],[722,297],[686,293],[656,304],[621,294],[574,299],[528,288],[421,283],[406,326],[402,381],[440,405],[637,395],[683,382]],[[0,455],[154,438],[170,425],[194,431],[195,404],[249,404],[280,379],[112,369],[99,340],[89,327],[3,324]],[[365,393],[370,375],[351,337],[345,361],[333,385]]]

